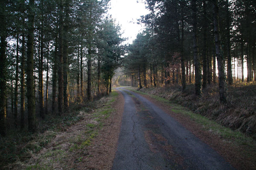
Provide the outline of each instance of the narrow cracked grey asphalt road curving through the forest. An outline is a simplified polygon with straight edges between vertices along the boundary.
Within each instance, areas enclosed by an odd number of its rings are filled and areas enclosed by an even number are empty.
[[[209,145],[141,95],[125,98],[113,170],[234,170]]]

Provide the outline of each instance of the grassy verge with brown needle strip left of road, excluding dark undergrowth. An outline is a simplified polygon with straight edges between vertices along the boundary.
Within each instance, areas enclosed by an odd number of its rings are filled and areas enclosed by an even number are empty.
[[[14,170],[111,169],[115,156],[124,99],[113,92],[95,102],[95,109],[81,110],[80,121],[64,131],[47,130],[50,142],[31,158],[9,164]],[[35,141],[36,142],[36,141]]]

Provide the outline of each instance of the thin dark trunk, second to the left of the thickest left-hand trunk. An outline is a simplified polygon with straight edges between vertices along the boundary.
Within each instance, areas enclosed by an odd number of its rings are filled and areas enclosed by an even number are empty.
[[[19,81],[19,35],[17,35],[16,44],[16,73],[15,73],[15,90],[14,90],[14,124],[18,127],[18,81]]]

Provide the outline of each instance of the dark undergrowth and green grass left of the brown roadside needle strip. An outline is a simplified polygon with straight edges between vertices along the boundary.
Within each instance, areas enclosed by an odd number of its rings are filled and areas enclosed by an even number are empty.
[[[0,169],[48,170],[67,164],[65,158],[90,146],[104,126],[102,120],[113,112],[110,105],[117,95],[112,92],[99,101],[73,106],[61,116],[47,115],[39,122],[38,133],[9,132],[7,137],[0,139]],[[73,125],[75,129],[70,130]]]

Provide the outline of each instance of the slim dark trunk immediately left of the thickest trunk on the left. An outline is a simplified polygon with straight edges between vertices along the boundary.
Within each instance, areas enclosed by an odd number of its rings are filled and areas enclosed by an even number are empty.
[[[24,5],[24,1],[23,1]],[[23,26],[24,26],[23,18]],[[21,72],[20,72],[20,129],[25,127],[24,112],[25,112],[25,31],[22,30],[22,46],[21,46]]]

